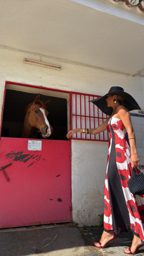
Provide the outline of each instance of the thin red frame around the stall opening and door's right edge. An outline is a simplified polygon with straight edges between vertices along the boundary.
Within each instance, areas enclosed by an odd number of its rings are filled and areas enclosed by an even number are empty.
[[[48,91],[56,91],[56,92],[64,92],[64,93],[69,93],[70,95],[70,129],[72,126],[71,123],[71,93],[70,91],[64,91],[64,90],[59,90],[59,89],[52,89],[52,88],[46,88],[42,86],[37,86],[37,85],[29,85],[29,84],[22,84],[18,82],[12,82],[12,81],[5,81],[5,89],[3,92],[3,103],[2,103],[2,112],[1,112],[1,126],[0,126],[0,140],[1,140],[1,130],[2,130],[2,120],[3,120],[3,110],[4,110],[4,105],[5,105],[5,94],[6,94],[6,85],[7,84],[13,84],[13,85],[18,85],[18,86],[25,86],[25,87],[31,87],[31,88],[39,88],[43,90],[48,90]],[[71,186],[71,140],[70,140],[70,186]],[[72,221],[72,189],[70,187],[70,205],[71,205],[71,211],[70,211],[70,219]]]

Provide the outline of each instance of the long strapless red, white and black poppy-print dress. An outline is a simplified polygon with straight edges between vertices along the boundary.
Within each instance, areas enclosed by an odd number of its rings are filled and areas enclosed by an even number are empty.
[[[104,186],[104,230],[106,232],[131,231],[144,243],[144,195],[134,195],[127,181],[132,175],[130,145],[123,122],[109,119],[108,164]],[[135,168],[139,173],[139,169]]]

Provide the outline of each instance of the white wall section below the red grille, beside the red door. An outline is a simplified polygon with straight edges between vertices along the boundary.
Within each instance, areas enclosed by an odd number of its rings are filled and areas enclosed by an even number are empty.
[[[73,221],[98,224],[103,213],[108,142],[72,141]]]

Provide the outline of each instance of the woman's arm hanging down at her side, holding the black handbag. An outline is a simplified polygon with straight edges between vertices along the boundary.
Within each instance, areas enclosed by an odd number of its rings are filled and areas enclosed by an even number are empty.
[[[131,157],[130,157],[131,166],[132,167],[139,166],[139,158],[137,155],[137,149],[135,144],[135,133],[132,127],[130,113],[126,110],[126,108],[123,107],[119,109],[118,115],[122,120],[124,126],[126,127],[126,130],[128,133],[128,139],[129,139],[130,148],[131,148]]]

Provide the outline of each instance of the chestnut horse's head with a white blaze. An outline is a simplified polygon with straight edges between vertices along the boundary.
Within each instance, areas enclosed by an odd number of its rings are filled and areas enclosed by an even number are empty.
[[[29,124],[32,127],[36,127],[41,132],[43,138],[47,138],[51,135],[52,127],[47,119],[48,111],[46,106],[51,100],[43,102],[39,100],[39,97],[40,95],[37,95],[29,108]]]

